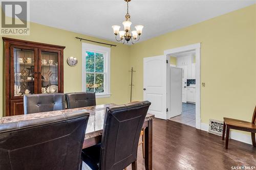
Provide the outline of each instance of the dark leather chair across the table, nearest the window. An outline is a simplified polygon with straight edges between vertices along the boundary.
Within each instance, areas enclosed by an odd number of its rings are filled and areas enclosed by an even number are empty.
[[[66,99],[68,109],[96,105],[95,92],[66,93]]]

